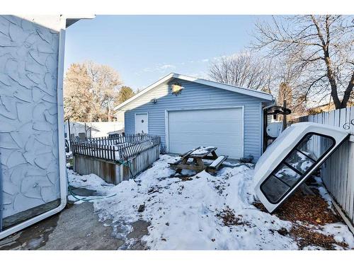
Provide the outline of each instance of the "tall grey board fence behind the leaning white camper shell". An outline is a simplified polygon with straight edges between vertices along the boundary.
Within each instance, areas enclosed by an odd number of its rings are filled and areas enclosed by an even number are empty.
[[[350,133],[348,141],[335,151],[321,167],[321,177],[343,212],[354,223],[354,107],[300,117],[296,122],[316,122],[340,127]],[[319,143],[312,143],[319,151]]]

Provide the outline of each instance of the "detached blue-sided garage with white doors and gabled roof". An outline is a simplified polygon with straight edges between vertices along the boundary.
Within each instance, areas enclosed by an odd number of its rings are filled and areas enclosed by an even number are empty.
[[[258,90],[171,73],[115,107],[125,133],[161,136],[169,153],[216,146],[229,158],[253,155],[263,143],[263,107],[273,96]]]

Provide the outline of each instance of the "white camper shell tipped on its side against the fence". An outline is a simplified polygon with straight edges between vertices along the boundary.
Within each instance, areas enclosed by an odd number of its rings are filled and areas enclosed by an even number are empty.
[[[273,213],[347,137],[342,129],[313,122],[285,129],[256,164],[258,199]]]

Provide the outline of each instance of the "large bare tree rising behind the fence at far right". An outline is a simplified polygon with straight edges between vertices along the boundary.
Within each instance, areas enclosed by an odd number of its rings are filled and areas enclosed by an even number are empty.
[[[331,95],[336,109],[347,106],[354,86],[353,17],[280,16],[256,28],[251,47],[291,60],[302,73],[304,98]]]

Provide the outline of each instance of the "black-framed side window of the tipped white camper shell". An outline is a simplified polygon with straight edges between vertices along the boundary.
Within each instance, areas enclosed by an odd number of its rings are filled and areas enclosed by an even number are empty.
[[[312,146],[320,145],[317,153]],[[330,136],[309,133],[295,146],[284,160],[261,184],[261,191],[272,204],[278,202],[307,175],[335,145]],[[317,149],[317,148],[316,148]]]

